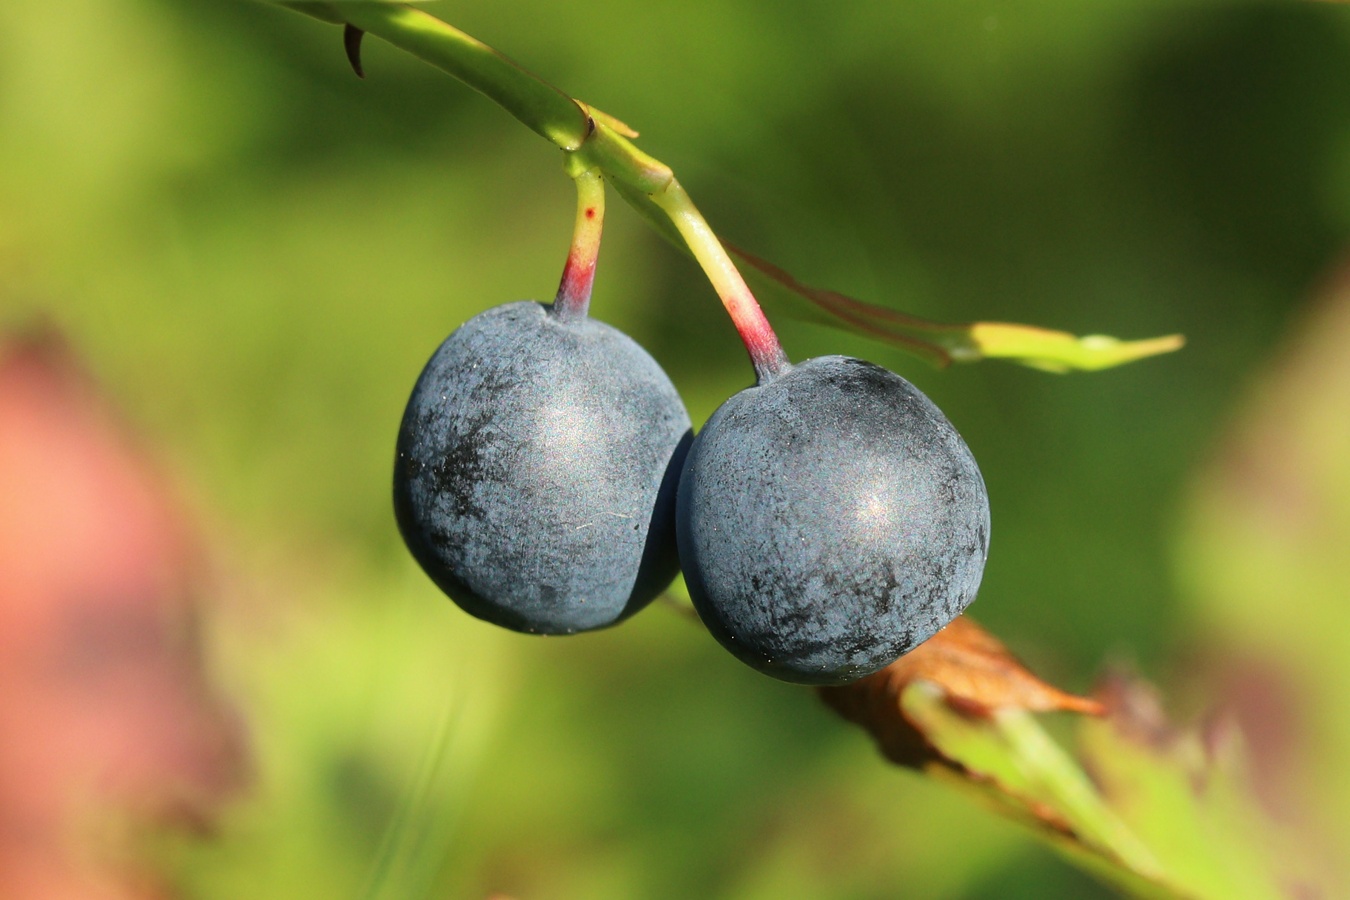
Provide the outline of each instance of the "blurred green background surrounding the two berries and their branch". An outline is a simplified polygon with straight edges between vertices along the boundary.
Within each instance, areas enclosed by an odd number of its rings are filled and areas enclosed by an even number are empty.
[[[1106,896],[660,604],[529,638],[416,569],[389,503],[402,405],[460,321],[551,297],[574,210],[554,148],[378,40],[358,81],[335,28],[286,11],[58,5],[0,4],[0,328],[69,335],[216,549],[212,661],[255,781],[174,853],[188,896],[355,897],[382,842],[390,897]],[[1350,9],[428,8],[633,124],[720,232],[803,281],[944,320],[1184,332],[1061,378],[775,320],[794,358],[886,364],[965,434],[994,515],[973,611],[1033,668],[1081,691],[1126,660],[1185,712],[1228,648],[1291,661],[1318,723],[1301,777],[1332,785],[1300,815],[1350,810],[1345,703],[1310,694],[1350,679],[1350,502],[1314,563],[1234,579],[1256,557],[1196,499],[1350,239]],[[748,385],[744,352],[693,263],[617,197],[608,224],[593,313],[702,422]],[[1350,420],[1319,390],[1307,421]],[[1346,487],[1331,430],[1299,472]]]

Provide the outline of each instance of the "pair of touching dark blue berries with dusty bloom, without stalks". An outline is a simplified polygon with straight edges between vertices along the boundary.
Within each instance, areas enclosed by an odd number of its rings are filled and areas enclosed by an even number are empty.
[[[423,569],[482,619],[605,627],[683,567],[726,649],[805,684],[863,677],[956,618],[990,534],[975,459],[903,378],[784,362],[693,437],[632,339],[535,302],[471,318],[432,356],[394,509]]]

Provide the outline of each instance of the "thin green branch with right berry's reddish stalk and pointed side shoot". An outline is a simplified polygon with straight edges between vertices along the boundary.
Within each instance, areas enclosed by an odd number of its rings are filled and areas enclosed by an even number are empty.
[[[639,150],[637,132],[547,81],[481,40],[404,3],[374,0],[273,0],[323,22],[342,24],[352,67],[362,74],[360,35],[374,34],[482,92],[536,134],[580,154],[657,229],[688,250],[713,283],[745,341],[760,378],[786,364],[782,348],[732,255],[761,290],[805,300],[832,324],[895,344],[937,364],[1007,359],[1045,371],[1119,366],[1181,347],[1179,335],[1122,341],[1008,322],[944,324],[810,287],[782,269],[734,248],[728,254],[670,166]]]

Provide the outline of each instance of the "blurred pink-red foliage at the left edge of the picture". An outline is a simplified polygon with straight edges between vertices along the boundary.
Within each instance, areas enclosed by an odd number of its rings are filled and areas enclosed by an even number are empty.
[[[50,329],[0,339],[0,897],[170,897],[135,847],[247,779],[198,534]]]

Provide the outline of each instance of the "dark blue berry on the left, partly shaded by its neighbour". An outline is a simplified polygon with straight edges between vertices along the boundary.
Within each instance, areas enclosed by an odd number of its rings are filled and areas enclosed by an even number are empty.
[[[464,322],[413,389],[394,513],[431,579],[478,618],[571,634],[675,576],[688,414],[630,337],[536,302]]]

